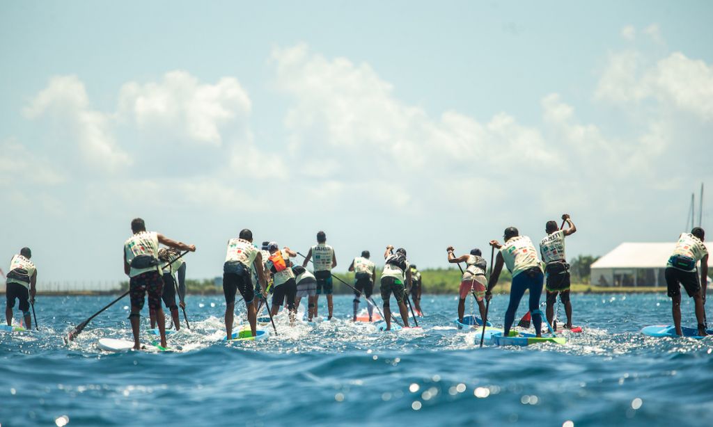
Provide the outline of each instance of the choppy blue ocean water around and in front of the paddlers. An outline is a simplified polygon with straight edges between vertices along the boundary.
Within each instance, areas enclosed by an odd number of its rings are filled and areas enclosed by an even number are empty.
[[[0,426],[713,423],[713,339],[639,332],[671,323],[665,295],[574,295],[584,332],[565,345],[479,349],[474,332],[453,326],[455,298],[429,295],[422,330],[349,322],[352,297],[338,296],[340,320],[289,327],[279,317],[279,335],[230,344],[218,340],[222,296],[189,295],[193,329],[168,338],[174,352],[101,352],[98,339],[130,337],[126,299],[63,343],[113,299],[40,296],[39,332],[0,332]],[[493,297],[496,325],[507,300]],[[682,310],[695,325],[692,301]]]

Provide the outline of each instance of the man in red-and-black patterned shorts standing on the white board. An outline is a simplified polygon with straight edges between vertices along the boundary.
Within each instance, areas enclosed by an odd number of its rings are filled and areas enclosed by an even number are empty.
[[[131,332],[134,336],[134,349],[140,349],[139,325],[140,312],[143,308],[145,295],[148,293],[148,309],[155,310],[158,331],[161,335],[161,347],[166,347],[165,318],[161,308],[161,295],[163,293],[163,280],[160,273],[158,260],[158,243],[180,249],[181,251],[195,252],[195,245],[186,245],[174,241],[155,231],[146,231],[146,226],[141,218],[131,221],[133,236],[124,242],[124,273],[129,276],[129,296],[131,299]]]

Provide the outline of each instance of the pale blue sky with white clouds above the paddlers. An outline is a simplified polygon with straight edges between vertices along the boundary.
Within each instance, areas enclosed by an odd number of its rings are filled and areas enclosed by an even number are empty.
[[[713,189],[712,10],[4,2],[0,259],[118,280],[135,216],[198,246],[194,278],[245,227],[299,251],[324,229],[338,270],[389,243],[446,265],[565,211],[570,257],[672,241]]]

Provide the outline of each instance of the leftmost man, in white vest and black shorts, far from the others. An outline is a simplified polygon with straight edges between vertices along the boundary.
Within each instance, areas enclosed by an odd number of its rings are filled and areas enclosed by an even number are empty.
[[[12,257],[5,282],[5,320],[7,320],[7,325],[12,326],[12,308],[15,307],[15,300],[19,300],[26,330],[32,329],[30,304],[35,303],[35,285],[37,283],[37,268],[30,260],[31,257],[30,248],[22,248],[19,254]]]

